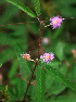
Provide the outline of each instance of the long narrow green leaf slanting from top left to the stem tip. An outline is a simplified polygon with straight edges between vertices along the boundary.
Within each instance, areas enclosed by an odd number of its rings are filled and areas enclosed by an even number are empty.
[[[16,5],[18,9],[21,9],[22,11],[24,11],[25,13],[27,13],[29,16],[31,17],[36,17],[36,15],[34,14],[34,12],[28,8],[21,3],[18,0],[7,0],[8,2]]]

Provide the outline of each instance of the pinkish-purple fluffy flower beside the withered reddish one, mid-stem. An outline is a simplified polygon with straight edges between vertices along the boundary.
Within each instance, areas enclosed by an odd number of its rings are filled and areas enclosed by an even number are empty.
[[[42,62],[47,62],[47,64],[54,59],[54,54],[52,52],[45,53],[43,55],[40,55],[40,59],[42,59]],[[51,63],[51,62],[50,62]]]

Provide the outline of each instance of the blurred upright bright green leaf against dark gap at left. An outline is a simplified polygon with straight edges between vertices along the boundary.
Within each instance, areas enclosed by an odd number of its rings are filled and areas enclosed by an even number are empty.
[[[15,75],[15,73],[17,71],[17,65],[18,65],[17,60],[14,60],[14,62],[12,64],[12,67],[11,67],[10,72],[9,72],[9,75],[8,75],[9,78],[12,78]]]

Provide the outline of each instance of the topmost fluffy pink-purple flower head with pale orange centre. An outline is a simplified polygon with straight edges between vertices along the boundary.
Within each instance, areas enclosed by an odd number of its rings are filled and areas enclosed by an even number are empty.
[[[55,17],[50,17],[50,21],[51,21],[50,25],[52,25],[53,27],[52,29],[61,26],[61,23],[63,23],[63,18],[59,15]]]

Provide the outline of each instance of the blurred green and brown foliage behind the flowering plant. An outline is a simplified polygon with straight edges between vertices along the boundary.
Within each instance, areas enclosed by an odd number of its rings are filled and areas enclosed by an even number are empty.
[[[22,0],[21,2],[29,7],[35,12],[31,0]],[[74,59],[74,55],[71,53],[71,51],[72,49],[76,50],[76,0],[40,0],[40,9],[41,15],[39,18],[46,21],[48,17],[47,25],[50,23],[50,17],[60,15],[63,18],[66,18],[63,21],[63,24],[60,28],[52,29],[51,26],[45,28],[39,54],[41,55],[45,52],[52,51],[55,59],[50,66],[53,65],[54,68],[59,69],[59,72],[61,72],[63,75],[66,75],[68,69],[67,63],[71,64]],[[21,25],[15,24],[25,22],[36,23]],[[15,25],[1,26],[7,24]],[[18,10],[16,7],[7,2],[5,0],[0,0],[0,64],[2,64],[0,67],[0,74],[3,77],[3,85],[9,85],[11,88],[14,88],[13,86],[16,86],[16,84],[20,81],[17,76],[20,73],[20,63],[16,56],[15,43],[17,43],[21,48],[22,53],[29,53],[30,51],[31,59],[37,58],[40,37],[40,31],[38,30],[39,28],[40,25],[37,18],[28,16],[26,13]],[[27,65],[28,67],[31,66],[30,71],[33,71],[34,63],[27,62]],[[26,79],[29,79],[29,76],[30,75],[26,75]],[[73,63],[67,78],[71,79],[74,85],[76,85],[76,61]],[[49,81],[51,82],[49,84]],[[18,91],[21,86],[22,85],[20,84],[17,88]],[[58,99],[56,102],[64,102],[65,100],[66,102],[75,102],[76,92],[62,86],[55,79],[52,79],[50,75],[47,76],[46,86],[45,102],[55,102],[53,101],[55,99]],[[12,94],[11,90],[12,89],[9,91],[10,94]],[[28,92],[28,97],[30,97],[29,93],[30,92]],[[16,100],[18,100],[20,95],[16,98]],[[67,95],[68,99],[72,97],[72,99],[69,99],[72,101],[67,99]],[[21,97],[21,99],[23,97]],[[12,99],[12,102],[16,101],[14,99],[15,98]],[[62,101],[61,99],[64,100]]]

